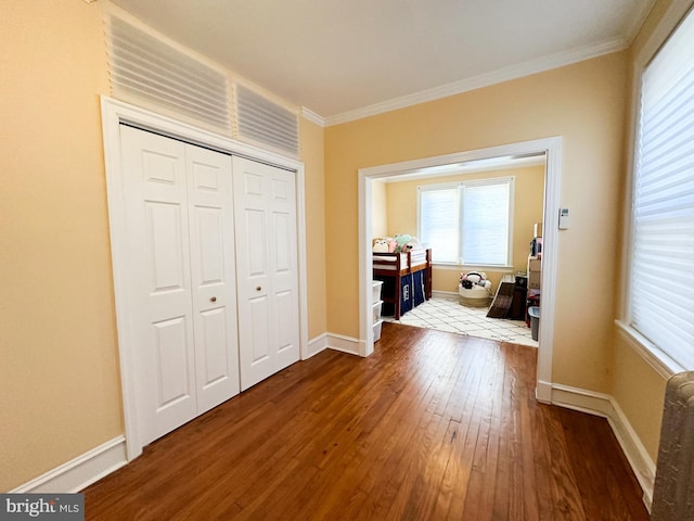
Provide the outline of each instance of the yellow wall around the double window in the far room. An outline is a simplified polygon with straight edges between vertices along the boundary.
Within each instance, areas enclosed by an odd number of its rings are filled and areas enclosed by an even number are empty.
[[[535,223],[542,223],[542,208],[544,202],[544,166],[416,179],[410,181],[389,182],[386,185],[386,203],[389,224],[387,233],[390,236],[395,233],[409,233],[416,237],[416,187],[509,176],[515,176],[513,268],[491,269],[466,266],[464,268],[455,267],[453,269],[452,267],[435,266],[432,276],[432,287],[434,291],[457,292],[461,271],[471,270],[484,270],[487,274],[487,278],[492,282],[496,291],[496,288],[504,274],[526,270],[529,243],[530,239],[532,239],[532,225]]]

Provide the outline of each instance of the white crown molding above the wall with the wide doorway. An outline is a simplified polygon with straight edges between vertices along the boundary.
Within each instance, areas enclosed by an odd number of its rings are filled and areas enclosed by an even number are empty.
[[[417,105],[427,101],[439,100],[449,96],[455,96],[468,92],[475,89],[481,89],[491,85],[510,81],[512,79],[523,78],[532,74],[551,71],[553,68],[564,67],[573,63],[591,60],[593,58],[609,54],[611,52],[622,51],[627,48],[627,41],[618,38],[602,43],[571,49],[549,56],[530,60],[525,63],[511,65],[500,68],[491,73],[480,74],[472,78],[453,81],[451,84],[441,85],[432,89],[422,90],[412,94],[394,98],[391,100],[374,103],[373,105],[363,106],[354,111],[347,111],[339,114],[325,117],[325,126],[340,125],[343,123],[354,122],[369,116],[375,116],[385,112],[404,109],[407,106]]]

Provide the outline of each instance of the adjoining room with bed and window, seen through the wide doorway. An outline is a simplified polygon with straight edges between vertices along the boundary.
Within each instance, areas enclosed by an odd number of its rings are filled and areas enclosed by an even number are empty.
[[[384,321],[538,346],[545,157],[372,183],[374,341]]]

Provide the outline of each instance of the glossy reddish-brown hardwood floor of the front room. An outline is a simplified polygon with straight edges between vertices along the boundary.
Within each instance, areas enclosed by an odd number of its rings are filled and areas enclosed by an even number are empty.
[[[536,350],[384,323],[154,442],[88,520],[647,520],[607,422],[538,404]]]

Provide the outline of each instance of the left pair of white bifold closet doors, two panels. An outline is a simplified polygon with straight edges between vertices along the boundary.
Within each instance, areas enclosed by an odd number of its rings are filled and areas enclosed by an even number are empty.
[[[128,126],[120,136],[121,343],[145,445],[240,392],[232,160]]]

